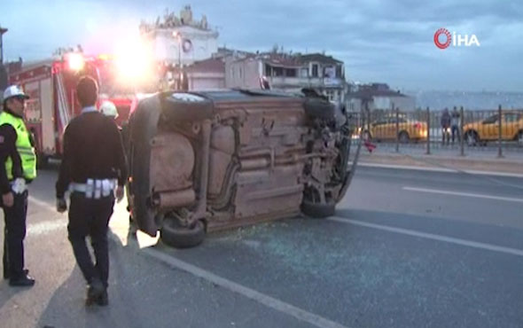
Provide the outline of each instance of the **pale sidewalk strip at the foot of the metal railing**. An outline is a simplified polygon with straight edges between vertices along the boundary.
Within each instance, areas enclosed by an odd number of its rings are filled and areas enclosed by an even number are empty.
[[[459,147],[438,147],[427,155],[425,145],[400,145],[400,151],[395,152],[394,144],[377,144],[373,152],[362,147],[359,163],[523,175],[523,150],[503,152],[503,158],[498,158],[495,148],[474,151],[465,147],[465,156],[461,156]]]

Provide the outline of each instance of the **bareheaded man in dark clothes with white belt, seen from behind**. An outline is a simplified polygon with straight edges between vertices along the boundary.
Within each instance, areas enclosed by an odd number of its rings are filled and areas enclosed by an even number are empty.
[[[76,86],[76,95],[82,113],[69,122],[64,133],[64,152],[56,184],[57,210],[66,211],[65,193],[69,189],[68,238],[88,284],[86,305],[106,306],[108,223],[113,215],[114,189],[116,199],[123,198],[127,168],[116,124],[96,109],[97,82],[82,77]],[[90,236],[96,263],[91,260],[87,236]]]

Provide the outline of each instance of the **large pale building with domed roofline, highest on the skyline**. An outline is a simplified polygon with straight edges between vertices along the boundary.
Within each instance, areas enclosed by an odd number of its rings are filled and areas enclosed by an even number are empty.
[[[166,12],[152,24],[142,21],[140,34],[151,44],[155,60],[167,65],[189,66],[218,51],[218,32],[209,27],[205,15],[194,20],[190,5],[179,16]]]

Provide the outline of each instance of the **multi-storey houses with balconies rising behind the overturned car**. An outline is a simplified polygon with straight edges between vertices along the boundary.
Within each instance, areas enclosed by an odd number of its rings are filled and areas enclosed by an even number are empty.
[[[227,88],[260,89],[265,78],[271,89],[298,92],[313,88],[332,101],[344,102],[347,90],[343,62],[324,54],[277,51],[241,53],[225,58]]]

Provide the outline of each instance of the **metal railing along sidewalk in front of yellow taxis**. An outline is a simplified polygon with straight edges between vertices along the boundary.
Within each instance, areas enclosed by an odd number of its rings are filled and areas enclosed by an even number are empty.
[[[508,152],[523,155],[523,109],[471,111],[463,106],[448,110],[426,108],[403,112],[401,108],[351,113],[356,131],[391,151],[425,148],[426,154],[446,150],[465,156],[469,152]]]

